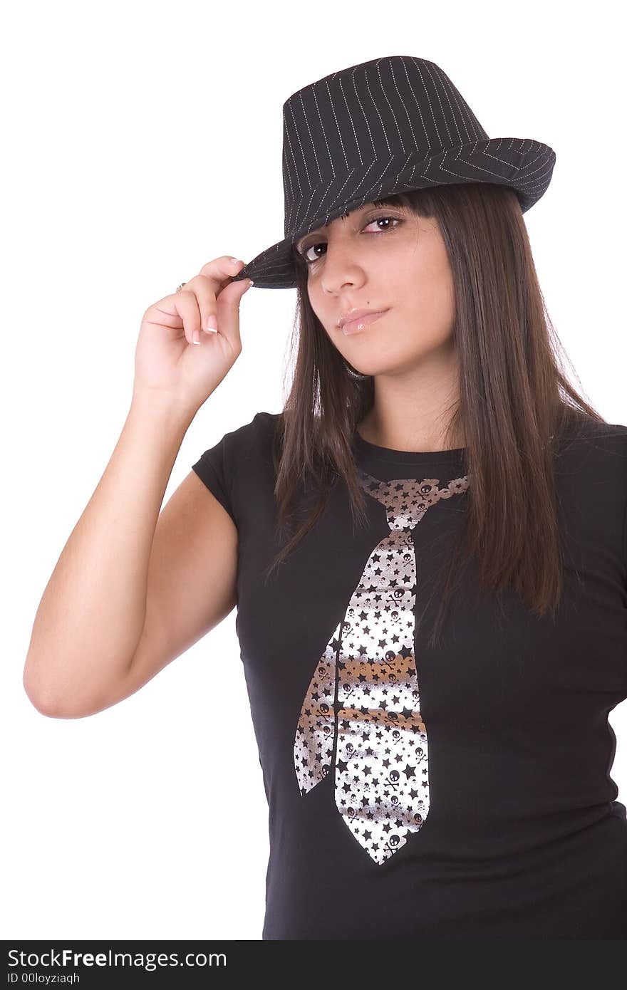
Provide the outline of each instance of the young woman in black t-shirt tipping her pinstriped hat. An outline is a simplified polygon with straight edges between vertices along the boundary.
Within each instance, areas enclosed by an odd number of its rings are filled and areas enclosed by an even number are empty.
[[[626,938],[607,715],[627,697],[627,427],[567,381],[536,277],[523,213],[555,152],[487,138],[410,56],[283,115],[285,238],[146,311],[26,689],[47,714],[100,711],[237,605],[263,939]],[[159,514],[241,353],[247,276],[297,289],[291,393]],[[244,813],[246,780],[236,795]]]

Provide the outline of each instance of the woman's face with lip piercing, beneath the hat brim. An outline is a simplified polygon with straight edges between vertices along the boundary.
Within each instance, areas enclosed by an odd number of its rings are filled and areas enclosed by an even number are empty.
[[[451,350],[453,275],[435,219],[368,203],[294,247],[308,263],[314,313],[356,370],[405,373]],[[354,308],[386,312],[345,335],[339,321]]]

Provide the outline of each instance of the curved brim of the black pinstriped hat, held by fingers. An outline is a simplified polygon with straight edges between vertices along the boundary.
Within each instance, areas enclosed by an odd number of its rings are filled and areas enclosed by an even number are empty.
[[[490,182],[507,185],[516,192],[521,210],[525,213],[546,192],[556,161],[553,148],[542,142],[521,138],[489,138],[472,142],[459,148],[447,148],[440,154],[430,155],[421,161],[410,159],[401,172],[383,175],[377,179],[366,195],[336,205],[294,231],[282,241],[266,247],[249,261],[234,278],[241,281],[252,278],[259,289],[296,288],[296,269],[292,247],[303,235],[337,217],[350,213],[366,202],[386,199],[412,189],[429,189],[435,185],[460,185],[469,182]],[[369,170],[369,164],[366,164]],[[356,186],[361,185],[357,176]],[[371,193],[371,195],[368,195]]]

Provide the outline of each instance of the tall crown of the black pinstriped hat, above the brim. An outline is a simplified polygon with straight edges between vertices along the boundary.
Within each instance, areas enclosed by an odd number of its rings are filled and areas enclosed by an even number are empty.
[[[359,172],[366,193],[383,169],[400,172],[409,161],[484,140],[470,106],[435,62],[389,55],[332,72],[283,104],[285,237],[302,220],[298,204],[320,198],[339,179],[350,183]]]

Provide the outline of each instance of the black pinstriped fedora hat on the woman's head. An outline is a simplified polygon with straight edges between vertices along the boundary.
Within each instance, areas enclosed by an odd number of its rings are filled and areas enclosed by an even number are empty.
[[[531,138],[488,138],[435,62],[389,55],[351,65],[283,104],[284,238],[234,281],[295,288],[294,242],[411,189],[494,182],[514,189],[525,213],[546,191],[555,159]]]

